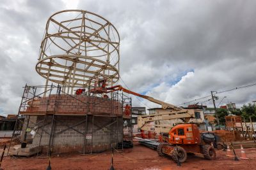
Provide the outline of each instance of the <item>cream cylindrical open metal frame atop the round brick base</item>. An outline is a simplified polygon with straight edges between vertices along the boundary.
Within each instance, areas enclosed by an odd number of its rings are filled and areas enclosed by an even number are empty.
[[[116,28],[105,18],[84,10],[59,11],[47,21],[36,71],[46,85],[50,80],[90,87],[99,78],[113,85],[119,80],[119,45]]]

